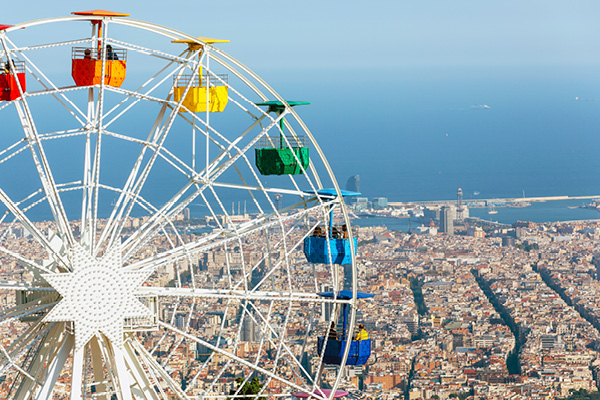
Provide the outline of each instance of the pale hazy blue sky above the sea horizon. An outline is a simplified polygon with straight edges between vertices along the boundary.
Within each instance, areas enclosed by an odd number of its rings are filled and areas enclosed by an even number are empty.
[[[35,6],[32,6],[35,4]],[[599,64],[596,0],[11,1],[1,23],[104,8],[226,48],[255,67]]]

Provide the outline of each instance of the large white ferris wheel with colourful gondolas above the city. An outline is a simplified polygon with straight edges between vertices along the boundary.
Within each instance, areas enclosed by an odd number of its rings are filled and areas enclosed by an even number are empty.
[[[0,25],[1,398],[325,399],[367,362],[356,193],[225,43]]]

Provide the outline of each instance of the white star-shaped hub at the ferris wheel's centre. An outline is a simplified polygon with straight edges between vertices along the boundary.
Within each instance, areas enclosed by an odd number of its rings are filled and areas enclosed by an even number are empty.
[[[73,322],[77,349],[100,332],[121,347],[125,318],[152,317],[134,296],[148,274],[124,271],[120,246],[112,247],[98,259],[75,244],[70,261],[72,272],[42,275],[62,296],[44,321]]]

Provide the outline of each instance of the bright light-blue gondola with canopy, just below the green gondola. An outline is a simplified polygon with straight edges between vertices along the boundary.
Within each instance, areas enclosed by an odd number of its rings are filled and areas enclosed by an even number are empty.
[[[359,196],[358,192],[350,192],[340,190],[342,196]],[[322,199],[332,199],[337,196],[335,189],[321,189],[315,192],[305,192],[315,194]],[[333,211],[332,211],[333,212]],[[332,237],[333,216],[329,217],[329,238],[325,236],[309,236],[304,239],[304,255],[308,262],[317,264],[352,264],[352,252],[350,250],[350,239],[339,239]],[[329,242],[329,244],[328,244]],[[356,255],[356,247],[358,242],[353,238],[354,254]]]

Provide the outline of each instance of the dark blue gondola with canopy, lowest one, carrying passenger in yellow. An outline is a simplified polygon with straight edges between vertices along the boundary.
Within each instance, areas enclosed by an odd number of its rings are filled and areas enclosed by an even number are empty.
[[[322,292],[317,293],[322,297],[334,297],[334,292]],[[357,292],[357,299],[366,299],[373,297],[372,294]],[[352,298],[352,292],[350,290],[342,290],[337,292],[336,298],[349,300]],[[319,336],[317,338],[317,351],[318,354],[323,354],[323,363],[328,365],[340,365],[344,358],[344,351],[346,347],[350,345],[348,350],[348,358],[346,359],[346,365],[365,365],[371,356],[371,339],[366,340],[353,340],[352,337],[348,338],[346,333],[346,324],[348,321],[348,308],[346,304],[343,305],[342,312],[344,315],[343,331],[340,339],[328,339],[325,336]],[[323,347],[325,352],[323,353]]]

